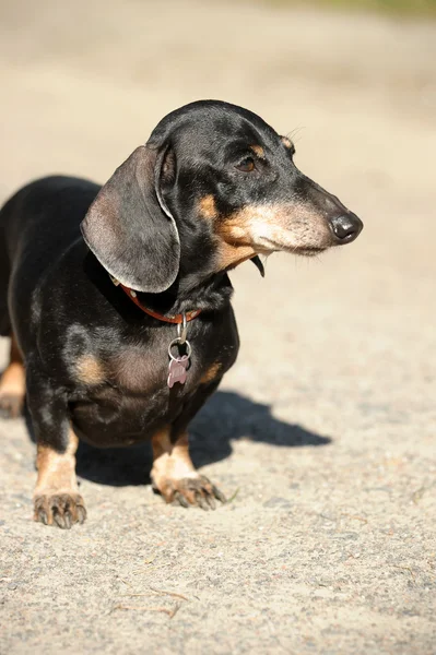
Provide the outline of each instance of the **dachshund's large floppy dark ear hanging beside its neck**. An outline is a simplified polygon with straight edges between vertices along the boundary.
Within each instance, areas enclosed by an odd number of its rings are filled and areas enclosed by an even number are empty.
[[[86,245],[106,271],[138,291],[165,291],[179,270],[179,236],[160,190],[165,155],[137,147],[81,224]]]

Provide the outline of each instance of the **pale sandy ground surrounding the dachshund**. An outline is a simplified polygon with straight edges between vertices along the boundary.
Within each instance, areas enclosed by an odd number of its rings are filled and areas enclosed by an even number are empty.
[[[0,652],[435,653],[436,25],[193,0],[0,11],[1,199],[47,172],[103,181],[167,111],[215,97],[294,134],[365,222],[318,261],[233,275],[240,356],[191,432],[233,497],[216,512],[165,505],[144,449],[87,450],[86,524],[34,524],[34,445],[0,422]]]

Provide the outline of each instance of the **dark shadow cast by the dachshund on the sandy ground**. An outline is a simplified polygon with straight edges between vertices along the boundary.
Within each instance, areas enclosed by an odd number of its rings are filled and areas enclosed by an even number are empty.
[[[212,396],[191,422],[189,434],[190,454],[196,467],[228,457],[235,439],[246,438],[287,448],[331,442],[329,437],[274,418],[269,405],[228,391],[220,391]],[[102,485],[145,485],[150,483],[152,462],[149,443],[101,450],[81,442],[76,472],[80,477]]]

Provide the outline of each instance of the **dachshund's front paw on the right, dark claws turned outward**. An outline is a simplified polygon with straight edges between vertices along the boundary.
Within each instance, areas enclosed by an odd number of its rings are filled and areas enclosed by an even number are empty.
[[[198,507],[202,510],[214,510],[216,508],[215,499],[222,503],[226,502],[224,493],[204,475],[167,479],[158,491],[166,502],[179,504],[182,508]]]

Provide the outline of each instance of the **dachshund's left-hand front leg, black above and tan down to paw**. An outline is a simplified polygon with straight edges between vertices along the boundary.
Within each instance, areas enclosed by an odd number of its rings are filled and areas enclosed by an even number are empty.
[[[38,471],[34,519],[46,525],[70,528],[86,517],[75,477],[79,439],[70,425],[64,393],[55,391],[47,380],[30,369],[27,400],[37,442]]]

